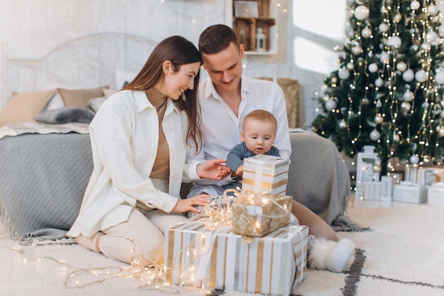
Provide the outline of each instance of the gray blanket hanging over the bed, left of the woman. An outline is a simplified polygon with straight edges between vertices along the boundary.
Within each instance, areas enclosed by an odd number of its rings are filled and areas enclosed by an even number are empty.
[[[89,134],[0,139],[0,216],[12,239],[65,236],[92,172]]]

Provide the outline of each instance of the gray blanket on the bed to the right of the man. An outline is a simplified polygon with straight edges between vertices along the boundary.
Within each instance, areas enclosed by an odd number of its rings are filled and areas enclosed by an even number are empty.
[[[287,194],[328,224],[345,213],[350,174],[333,142],[309,131],[290,133]]]

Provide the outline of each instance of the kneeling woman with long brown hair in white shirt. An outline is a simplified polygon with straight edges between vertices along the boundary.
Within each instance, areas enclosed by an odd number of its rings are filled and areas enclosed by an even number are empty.
[[[94,170],[67,236],[118,261],[162,264],[165,229],[209,202],[206,194],[180,199],[182,178],[229,173],[225,160],[186,159],[201,143],[200,67],[189,40],[166,38],[133,82],[104,102],[89,127]]]

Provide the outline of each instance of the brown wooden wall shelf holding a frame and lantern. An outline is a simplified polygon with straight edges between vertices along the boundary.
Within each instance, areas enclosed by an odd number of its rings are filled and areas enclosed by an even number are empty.
[[[245,54],[276,54],[277,7],[273,5],[274,0],[231,0],[231,2],[233,8],[231,23],[239,42],[245,46]],[[267,36],[265,39],[265,51],[256,50],[257,28],[262,28],[263,33]]]

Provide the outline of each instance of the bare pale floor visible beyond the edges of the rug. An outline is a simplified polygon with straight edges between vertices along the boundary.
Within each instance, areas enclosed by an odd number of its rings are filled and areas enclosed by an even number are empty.
[[[406,207],[397,202],[364,201],[350,197],[349,207]],[[45,296],[45,287],[40,276],[37,259],[24,260],[16,245],[0,229],[0,295],[2,296]],[[14,249],[15,248],[15,249]]]

